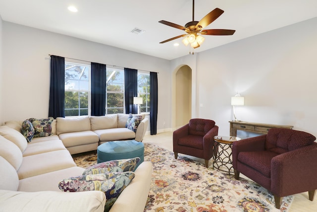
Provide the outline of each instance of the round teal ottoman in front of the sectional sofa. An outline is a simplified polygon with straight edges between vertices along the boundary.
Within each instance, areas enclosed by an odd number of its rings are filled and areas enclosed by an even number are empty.
[[[97,148],[97,163],[140,157],[144,161],[144,144],[135,140],[108,141]],[[138,164],[138,166],[139,166]]]

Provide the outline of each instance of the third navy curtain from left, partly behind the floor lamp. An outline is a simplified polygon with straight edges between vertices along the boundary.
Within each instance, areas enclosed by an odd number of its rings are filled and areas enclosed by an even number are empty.
[[[124,68],[125,113],[137,114],[138,106],[133,104],[133,97],[138,95],[138,70]]]

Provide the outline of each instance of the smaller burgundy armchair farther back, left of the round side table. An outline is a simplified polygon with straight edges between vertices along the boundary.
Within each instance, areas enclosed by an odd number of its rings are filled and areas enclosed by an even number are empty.
[[[218,126],[208,119],[191,119],[188,124],[173,132],[175,159],[183,153],[205,159],[208,168],[212,157],[213,137],[218,135]]]

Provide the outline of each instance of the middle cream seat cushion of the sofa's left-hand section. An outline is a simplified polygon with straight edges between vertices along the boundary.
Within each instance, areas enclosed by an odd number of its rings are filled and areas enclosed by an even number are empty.
[[[23,157],[19,179],[76,166],[68,150],[56,150]]]

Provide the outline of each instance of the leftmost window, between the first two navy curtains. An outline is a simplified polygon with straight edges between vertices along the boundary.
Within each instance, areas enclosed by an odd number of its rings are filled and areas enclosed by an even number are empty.
[[[90,66],[65,62],[65,116],[88,115]]]

